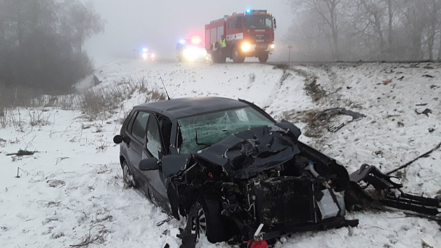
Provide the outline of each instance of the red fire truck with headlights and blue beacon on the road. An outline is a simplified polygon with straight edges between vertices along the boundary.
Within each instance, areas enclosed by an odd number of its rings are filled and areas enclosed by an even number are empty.
[[[232,13],[205,25],[205,49],[215,63],[226,58],[241,63],[245,57],[257,57],[260,62],[274,51],[276,19],[267,10],[247,9],[245,13]],[[226,47],[220,48],[221,36]]]

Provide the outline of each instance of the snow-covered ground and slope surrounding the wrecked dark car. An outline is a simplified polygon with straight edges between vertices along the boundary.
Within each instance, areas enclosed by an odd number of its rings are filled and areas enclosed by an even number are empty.
[[[330,117],[318,137],[301,140],[344,163],[349,172],[370,163],[387,172],[441,142],[441,64],[191,64],[116,61],[94,73],[95,89],[145,82],[172,98],[227,96],[246,99],[276,119],[295,120],[308,131],[311,113],[346,108],[365,115]],[[88,80],[78,89],[88,87]],[[314,99],[314,90],[325,94]],[[318,89],[318,88],[316,88]],[[185,221],[167,219],[139,191],[123,187],[118,163],[121,119],[146,94],[135,91],[111,115],[90,119],[80,110],[20,108],[0,129],[0,247],[179,247]],[[39,120],[38,122],[35,122]],[[32,124],[31,122],[34,121]],[[335,132],[330,126],[344,124]],[[317,127],[316,127],[317,129]],[[34,154],[18,156],[20,150]],[[400,171],[406,191],[441,191],[441,150]],[[275,247],[421,247],[441,244],[435,221],[400,211],[349,212],[357,228],[286,235]],[[197,247],[230,247],[201,238]]]

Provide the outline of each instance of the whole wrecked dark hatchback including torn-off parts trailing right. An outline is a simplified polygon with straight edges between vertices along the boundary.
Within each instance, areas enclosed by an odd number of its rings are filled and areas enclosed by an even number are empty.
[[[356,226],[345,212],[357,205],[439,213],[439,200],[401,192],[374,166],[349,175],[299,136],[297,126],[276,122],[253,103],[202,97],[137,105],[113,140],[125,184],[187,218],[180,234],[186,247],[199,233],[210,242],[261,242]]]

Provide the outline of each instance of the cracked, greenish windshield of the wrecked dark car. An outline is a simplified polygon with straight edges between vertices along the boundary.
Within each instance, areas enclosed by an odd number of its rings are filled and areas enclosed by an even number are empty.
[[[178,119],[180,137],[179,153],[195,153],[227,138],[233,133],[256,126],[272,125],[262,113],[251,107],[221,110]]]

